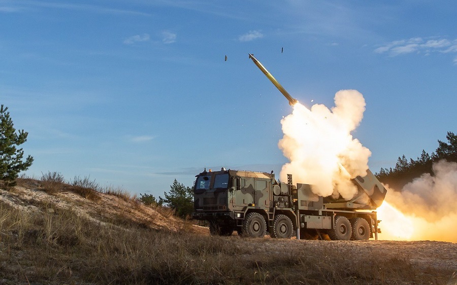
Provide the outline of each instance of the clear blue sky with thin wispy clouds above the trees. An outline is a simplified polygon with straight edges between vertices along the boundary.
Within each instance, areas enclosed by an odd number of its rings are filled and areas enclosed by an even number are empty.
[[[158,196],[204,167],[287,162],[291,108],[253,53],[307,106],[361,92],[352,134],[376,172],[457,131],[456,23],[453,1],[0,0],[0,98],[27,174]]]

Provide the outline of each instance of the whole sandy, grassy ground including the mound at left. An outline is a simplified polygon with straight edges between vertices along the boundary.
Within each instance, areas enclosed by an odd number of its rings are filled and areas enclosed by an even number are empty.
[[[213,237],[126,193],[81,193],[0,190],[0,284],[457,284],[451,242]]]

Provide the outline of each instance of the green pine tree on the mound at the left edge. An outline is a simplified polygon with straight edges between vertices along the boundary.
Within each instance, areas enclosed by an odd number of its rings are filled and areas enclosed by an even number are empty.
[[[17,149],[27,140],[28,133],[14,128],[8,107],[0,107],[0,181],[6,187],[16,185],[18,173],[27,170],[34,161],[28,156],[25,161],[24,151]]]

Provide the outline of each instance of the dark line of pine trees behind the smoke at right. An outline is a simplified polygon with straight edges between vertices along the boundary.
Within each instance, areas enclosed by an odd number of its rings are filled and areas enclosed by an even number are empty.
[[[432,173],[434,162],[442,159],[457,162],[457,135],[453,132],[447,132],[446,139],[447,142],[438,140],[438,148],[431,155],[425,150],[422,150],[417,159],[410,158],[408,160],[403,155],[398,157],[394,168],[381,168],[375,175],[379,181],[399,191],[422,173]]]

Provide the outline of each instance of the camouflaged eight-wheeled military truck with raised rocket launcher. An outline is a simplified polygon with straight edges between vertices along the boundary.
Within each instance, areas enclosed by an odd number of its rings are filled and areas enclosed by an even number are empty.
[[[357,194],[351,200],[322,197],[311,185],[292,185],[275,179],[273,171],[206,171],[195,180],[193,218],[206,220],[212,235],[298,239],[367,240],[380,232],[376,211],[386,189],[368,170],[352,180]]]

